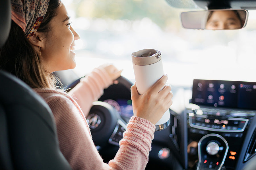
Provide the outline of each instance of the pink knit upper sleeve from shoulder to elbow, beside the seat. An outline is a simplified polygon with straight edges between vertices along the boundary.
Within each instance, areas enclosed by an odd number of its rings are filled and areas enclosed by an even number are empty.
[[[74,170],[104,169],[88,128],[75,105],[64,96],[46,99],[53,112],[59,147]]]

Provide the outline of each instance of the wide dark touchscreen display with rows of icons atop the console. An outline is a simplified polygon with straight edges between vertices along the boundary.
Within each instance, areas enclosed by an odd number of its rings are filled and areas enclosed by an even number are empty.
[[[256,82],[195,79],[192,91],[197,105],[256,109]]]

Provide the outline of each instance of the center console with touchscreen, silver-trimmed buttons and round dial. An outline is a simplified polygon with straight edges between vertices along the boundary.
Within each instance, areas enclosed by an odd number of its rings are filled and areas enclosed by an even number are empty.
[[[189,169],[234,170],[256,114],[256,82],[194,80],[186,107]]]

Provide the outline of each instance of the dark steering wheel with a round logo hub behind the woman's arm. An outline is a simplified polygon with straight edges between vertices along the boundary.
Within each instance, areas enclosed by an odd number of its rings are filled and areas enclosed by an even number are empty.
[[[73,82],[69,87],[73,88],[80,82],[80,78]],[[119,112],[110,104],[103,102],[107,99],[131,100],[131,86],[133,85],[123,76],[117,78],[115,83],[104,90],[103,95],[98,101],[93,102],[87,122],[91,129],[92,139],[97,149],[106,146],[119,146],[119,141],[123,138],[127,122],[121,118]],[[69,88],[68,87],[68,88]]]

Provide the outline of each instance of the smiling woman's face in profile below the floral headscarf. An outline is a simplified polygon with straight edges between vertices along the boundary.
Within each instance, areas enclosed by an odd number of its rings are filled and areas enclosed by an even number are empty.
[[[44,68],[50,73],[73,69],[75,62],[75,40],[79,35],[70,26],[70,17],[63,3],[57,9],[57,16],[50,21],[51,31],[42,47]]]

